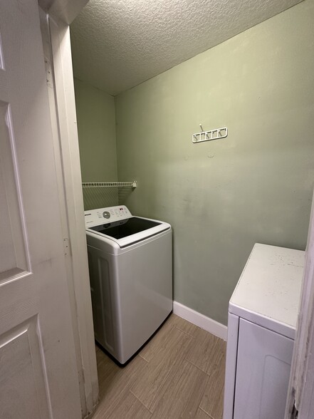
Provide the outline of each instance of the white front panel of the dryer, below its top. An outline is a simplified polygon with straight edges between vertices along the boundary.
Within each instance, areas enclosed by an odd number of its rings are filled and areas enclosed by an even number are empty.
[[[240,319],[234,419],[284,417],[293,340]]]

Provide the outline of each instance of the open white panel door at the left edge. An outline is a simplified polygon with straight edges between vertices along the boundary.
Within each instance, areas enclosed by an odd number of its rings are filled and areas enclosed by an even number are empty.
[[[81,417],[36,0],[0,1],[0,418]]]

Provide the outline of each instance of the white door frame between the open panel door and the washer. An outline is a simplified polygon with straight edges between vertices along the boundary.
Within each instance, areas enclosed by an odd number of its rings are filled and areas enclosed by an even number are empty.
[[[58,187],[63,214],[63,237],[67,260],[67,280],[70,296],[75,353],[82,417],[85,418],[98,403],[98,375],[95,358],[93,315],[90,299],[87,244],[84,223],[78,130],[76,123],[72,55],[69,24],[88,0],[38,0],[46,13],[46,42],[51,48],[53,88],[49,94],[51,119],[55,125],[55,155]],[[49,9],[46,4],[49,3]],[[47,39],[48,37],[48,39]],[[47,63],[46,63],[47,66]],[[46,67],[47,68],[47,67]]]

